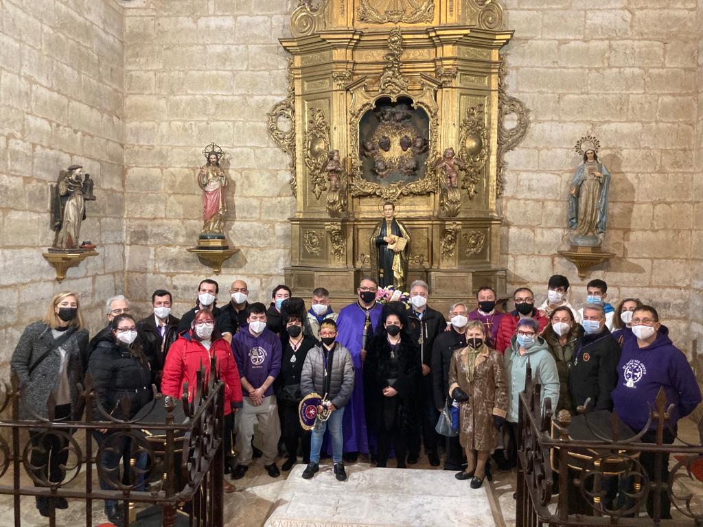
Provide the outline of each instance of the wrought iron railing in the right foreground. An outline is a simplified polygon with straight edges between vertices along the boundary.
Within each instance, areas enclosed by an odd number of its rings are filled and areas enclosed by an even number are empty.
[[[692,471],[694,464],[703,464],[703,422],[697,443],[683,441],[669,422],[671,405],[663,389],[640,431],[630,431],[616,412],[586,412],[589,403],[578,416],[561,410],[554,417],[550,399],[541,404],[541,386],[528,372],[517,427],[517,527],[702,526],[703,491],[690,487],[703,489]],[[656,431],[654,441],[641,441],[650,430]],[[672,438],[676,443],[670,444]],[[643,453],[653,456],[653,478],[640,463]],[[677,462],[665,477],[669,456]],[[662,517],[666,497],[673,519]]]

